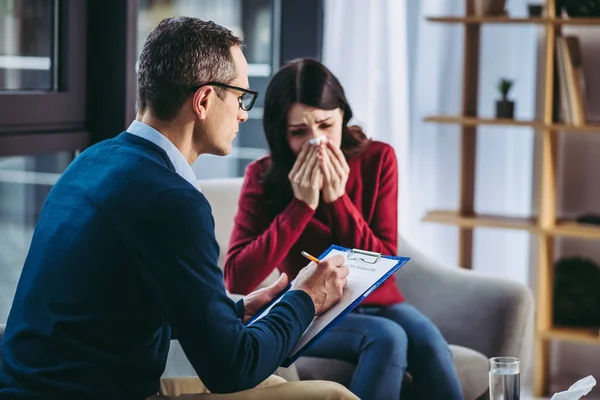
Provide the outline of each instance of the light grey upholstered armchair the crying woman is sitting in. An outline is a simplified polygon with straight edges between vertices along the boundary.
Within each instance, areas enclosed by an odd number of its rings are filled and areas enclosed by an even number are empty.
[[[242,178],[201,180],[200,187],[212,206],[215,235],[223,268],[229,235],[237,210]],[[400,238],[398,253],[411,261],[397,273],[398,286],[409,302],[431,318],[451,344],[465,399],[487,390],[487,359],[518,356],[528,360],[533,326],[533,300],[529,289],[515,282],[482,276],[458,267],[439,265]],[[268,280],[275,279],[274,272]],[[283,371],[286,379],[325,379],[348,384],[354,366],[337,360],[301,357]],[[194,374],[177,343],[172,346],[165,376]]]

